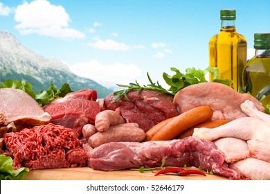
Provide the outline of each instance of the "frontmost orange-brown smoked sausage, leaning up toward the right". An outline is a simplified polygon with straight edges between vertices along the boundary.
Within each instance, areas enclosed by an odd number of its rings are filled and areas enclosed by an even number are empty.
[[[188,130],[199,123],[208,121],[213,116],[213,110],[209,106],[200,106],[175,116],[172,121],[166,123],[152,136],[151,141],[171,140],[181,132]]]

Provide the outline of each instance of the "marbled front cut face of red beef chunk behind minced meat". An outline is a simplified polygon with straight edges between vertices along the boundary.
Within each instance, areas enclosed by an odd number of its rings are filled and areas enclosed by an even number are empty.
[[[95,123],[100,105],[96,101],[75,98],[51,104],[44,111],[51,114],[51,123],[72,128],[80,135],[84,125]]]

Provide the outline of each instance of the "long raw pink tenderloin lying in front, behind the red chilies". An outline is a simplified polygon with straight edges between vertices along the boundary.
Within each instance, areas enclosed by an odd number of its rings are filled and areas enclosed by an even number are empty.
[[[229,179],[240,179],[235,167],[228,167],[224,154],[211,141],[192,136],[170,141],[146,141],[143,143],[111,142],[89,150],[88,166],[96,170],[123,170],[141,166],[201,166],[204,170]]]

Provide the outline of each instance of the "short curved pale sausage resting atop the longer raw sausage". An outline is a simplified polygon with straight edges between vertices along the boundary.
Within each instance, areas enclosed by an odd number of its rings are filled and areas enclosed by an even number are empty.
[[[95,118],[96,130],[105,132],[111,125],[118,125],[125,123],[125,119],[113,110],[104,110],[99,112]]]

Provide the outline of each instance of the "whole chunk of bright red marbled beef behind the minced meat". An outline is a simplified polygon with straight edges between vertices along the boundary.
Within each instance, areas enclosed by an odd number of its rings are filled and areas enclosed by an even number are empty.
[[[91,89],[76,91],[44,106],[44,111],[51,114],[51,123],[72,128],[79,136],[82,127],[95,123],[96,114],[100,112],[96,97],[96,91]]]

